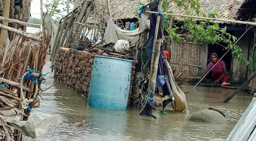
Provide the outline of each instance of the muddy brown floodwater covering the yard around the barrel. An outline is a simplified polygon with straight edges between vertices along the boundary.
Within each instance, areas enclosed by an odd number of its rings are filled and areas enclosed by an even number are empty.
[[[47,61],[43,72],[50,71]],[[61,123],[51,127],[40,141],[224,141],[252,99],[250,94],[241,92],[224,104],[221,102],[233,90],[200,86],[192,90],[192,86],[185,85],[185,91],[190,91],[186,94],[189,111],[160,115],[158,110],[154,113],[157,119],[154,119],[139,116],[135,108],[126,111],[90,108],[88,98],[54,81],[53,73],[48,75],[42,88],[54,82],[52,88],[42,93],[40,108],[32,109],[32,115],[40,118],[59,115]],[[194,112],[210,107],[223,111],[228,123],[214,125],[189,121]]]

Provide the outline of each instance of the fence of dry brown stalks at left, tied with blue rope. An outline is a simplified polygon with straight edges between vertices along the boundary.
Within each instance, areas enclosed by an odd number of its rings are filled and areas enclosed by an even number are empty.
[[[31,108],[37,103],[36,96],[39,91],[36,84],[31,80],[24,80],[22,83],[19,78],[26,73],[28,66],[42,71],[51,35],[46,33],[45,36],[41,32],[34,35],[41,41],[16,35],[9,46],[0,47],[0,85],[5,85],[5,88],[0,87],[0,115],[4,117],[19,116],[21,120],[27,120],[29,111],[24,109],[21,103],[24,100],[30,101]],[[38,84],[40,89],[40,82]],[[13,138],[14,130],[5,124],[0,118],[0,140]]]

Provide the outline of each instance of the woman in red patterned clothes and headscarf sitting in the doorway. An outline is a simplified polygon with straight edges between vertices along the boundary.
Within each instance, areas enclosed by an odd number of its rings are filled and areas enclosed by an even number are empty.
[[[210,56],[210,59],[212,60],[206,69],[206,74],[210,71],[210,69],[218,62],[219,58],[216,53],[213,53]],[[212,69],[212,79],[214,80],[214,83],[222,82],[221,85],[229,85],[230,83],[227,83],[228,81],[228,72],[226,69],[226,65],[223,61],[219,61],[218,64]]]

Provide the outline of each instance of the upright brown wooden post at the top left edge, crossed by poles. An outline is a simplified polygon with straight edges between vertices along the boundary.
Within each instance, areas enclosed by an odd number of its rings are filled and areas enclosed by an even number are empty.
[[[9,13],[10,13],[10,0],[4,0],[4,10],[3,10],[3,17],[9,18]],[[8,26],[8,22],[2,22],[3,25]],[[7,37],[7,31],[1,29],[1,34],[0,34],[0,45],[5,48],[5,40]]]

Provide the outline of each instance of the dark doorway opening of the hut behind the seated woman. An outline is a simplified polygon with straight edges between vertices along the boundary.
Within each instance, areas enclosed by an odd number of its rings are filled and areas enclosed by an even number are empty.
[[[225,43],[219,43],[219,44],[223,45],[224,47],[227,46]],[[211,62],[210,55],[212,53],[216,53],[220,59],[227,52],[227,50],[224,47],[222,47],[221,45],[218,45],[218,44],[209,44],[208,45],[207,65]],[[231,66],[232,66],[231,65],[232,64],[231,51],[228,52],[221,60],[225,62],[227,72],[231,74]],[[210,76],[210,75],[208,75],[208,76]]]

